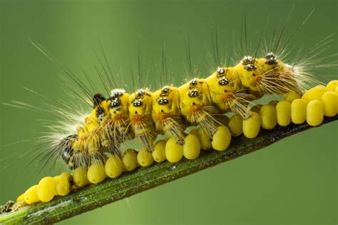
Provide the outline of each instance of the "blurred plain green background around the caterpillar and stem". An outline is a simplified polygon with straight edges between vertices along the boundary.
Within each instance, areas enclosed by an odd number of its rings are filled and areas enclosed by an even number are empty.
[[[240,36],[245,8],[248,33],[257,44],[268,16],[267,31],[272,32],[284,23],[293,5],[296,7],[286,36],[312,9],[316,10],[289,49],[309,49],[325,36],[337,33],[337,1],[1,0],[0,101],[14,99],[34,105],[44,101],[23,86],[51,99],[71,96],[61,88],[65,75],[29,39],[42,44],[81,79],[81,69],[96,74],[93,50],[99,51],[100,39],[111,63],[123,68],[123,84],[130,86],[140,36],[140,59],[143,69],[149,70],[148,84],[158,88],[155,65],[160,64],[163,36],[173,72],[170,79],[178,85],[185,77],[188,36],[193,59],[201,62],[201,75],[205,76],[215,69],[207,63],[206,55],[213,24],[217,23],[222,46],[237,52],[235,40]],[[337,49],[334,36],[324,54],[337,53]],[[325,82],[337,79],[337,67],[316,75]],[[0,113],[0,203],[4,204],[44,174],[57,174],[66,166],[61,164],[53,171],[45,168],[37,174],[42,162],[30,163],[29,146],[34,142],[24,140],[36,137],[41,131],[39,119],[53,119],[51,115],[4,105],[0,105]],[[290,136],[254,154],[61,224],[337,224],[337,125],[336,121]],[[22,142],[11,144],[16,141]]]

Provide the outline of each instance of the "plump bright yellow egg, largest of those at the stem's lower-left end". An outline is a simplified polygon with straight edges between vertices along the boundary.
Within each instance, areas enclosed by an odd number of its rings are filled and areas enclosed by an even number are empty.
[[[48,202],[56,196],[55,182],[53,177],[46,176],[38,185],[38,197],[40,201]]]

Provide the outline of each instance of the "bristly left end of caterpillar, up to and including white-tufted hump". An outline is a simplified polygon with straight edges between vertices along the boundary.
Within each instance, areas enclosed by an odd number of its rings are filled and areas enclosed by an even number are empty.
[[[71,169],[88,168],[95,161],[103,163],[107,154],[122,155],[120,144],[132,139],[128,101],[128,94],[121,89],[113,90],[108,100],[101,94],[93,96],[93,110],[78,126],[77,134],[66,137],[57,146]]]

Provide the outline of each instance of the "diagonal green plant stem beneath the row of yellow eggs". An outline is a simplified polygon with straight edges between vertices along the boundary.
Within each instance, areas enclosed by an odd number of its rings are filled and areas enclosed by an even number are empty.
[[[336,121],[338,116],[325,118],[323,124]],[[0,215],[0,224],[41,224],[53,223],[91,211],[133,194],[152,189],[183,176],[207,169],[225,161],[257,151],[287,136],[311,128],[307,124],[281,127],[262,131],[255,139],[244,136],[232,139],[226,151],[203,151],[198,159],[183,159],[177,164],[165,161],[148,168],[124,173],[118,179],[107,179],[98,185],[90,185],[67,196],[56,197],[48,203],[25,206],[17,211]]]

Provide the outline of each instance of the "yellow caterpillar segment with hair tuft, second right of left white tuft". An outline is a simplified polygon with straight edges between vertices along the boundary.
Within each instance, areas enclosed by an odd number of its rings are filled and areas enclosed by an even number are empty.
[[[185,125],[180,114],[177,87],[164,86],[153,92],[152,117],[156,131],[178,139],[179,144],[184,144]]]

